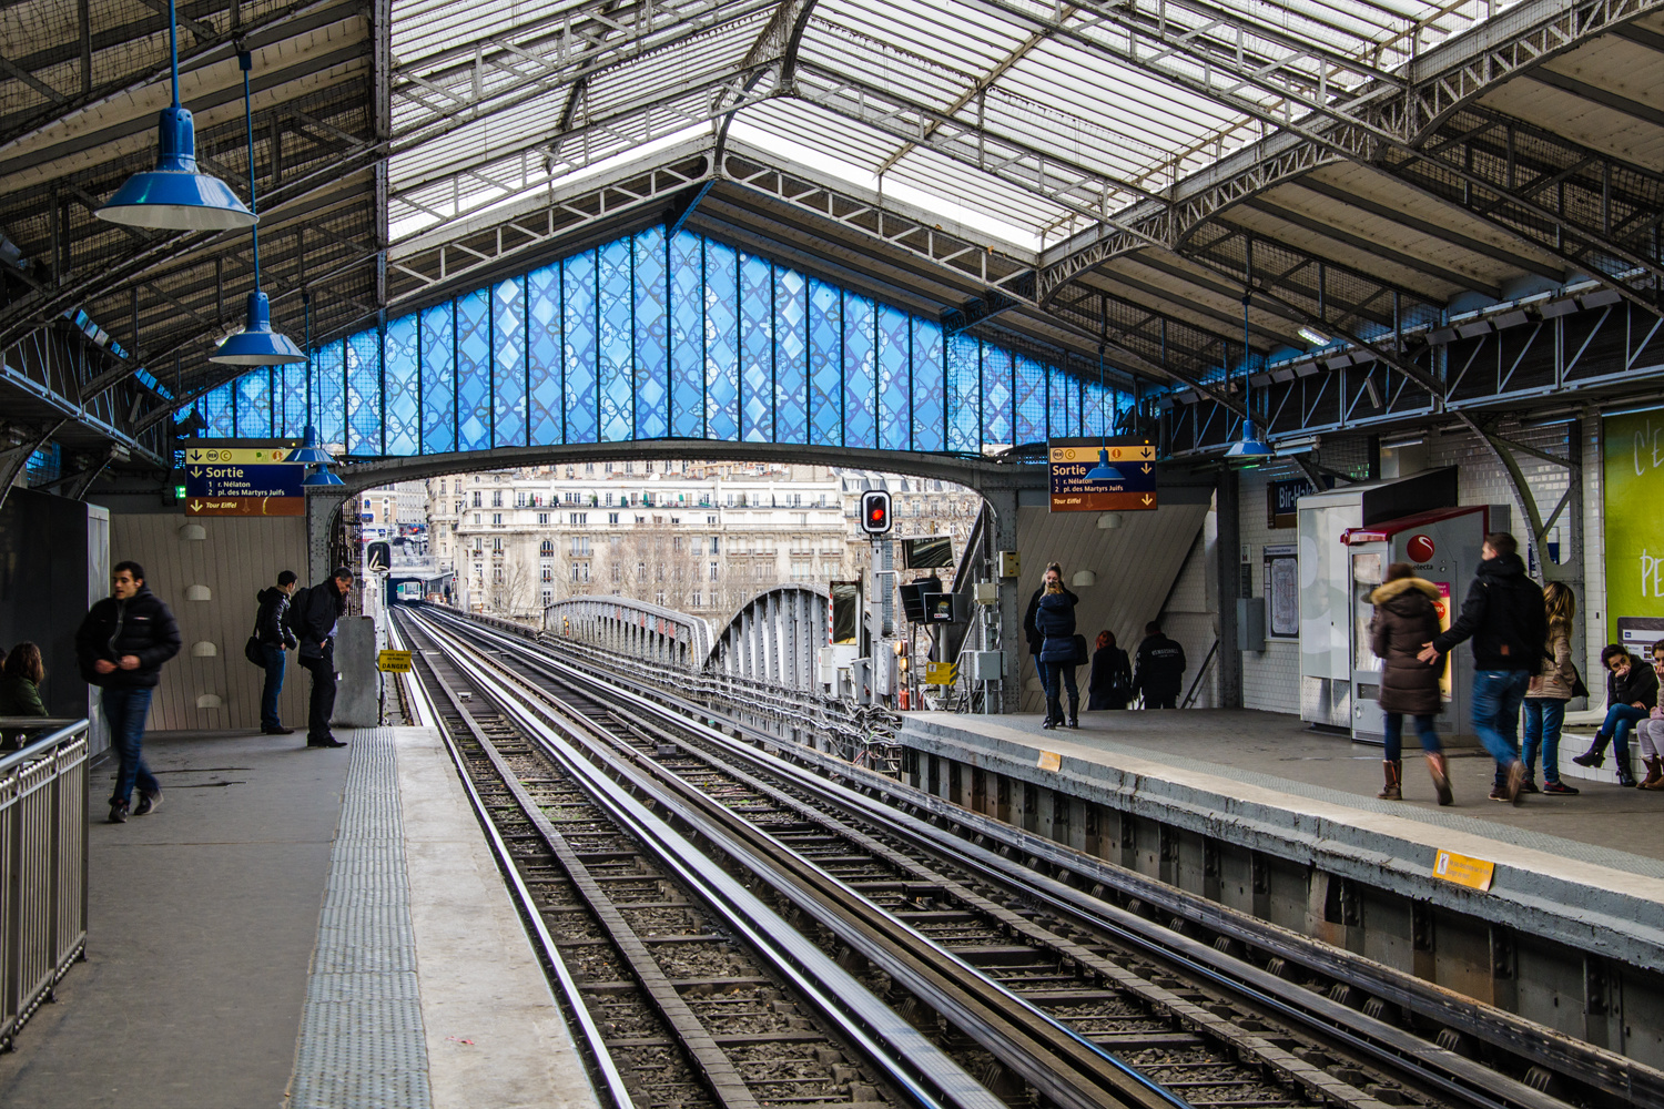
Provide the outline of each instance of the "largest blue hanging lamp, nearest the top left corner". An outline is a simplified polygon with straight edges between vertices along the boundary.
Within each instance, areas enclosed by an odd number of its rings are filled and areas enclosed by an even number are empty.
[[[168,52],[173,60],[173,105],[156,125],[156,168],[135,173],[97,214],[131,228],[226,231],[251,226],[255,213],[220,178],[196,170],[196,126],[180,106],[180,28],[168,0]]]

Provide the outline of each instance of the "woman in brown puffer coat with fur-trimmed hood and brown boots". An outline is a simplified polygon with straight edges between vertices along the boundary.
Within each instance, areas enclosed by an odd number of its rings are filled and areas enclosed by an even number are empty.
[[[1444,752],[1439,733],[1433,730],[1433,717],[1444,703],[1439,693],[1444,660],[1428,665],[1416,658],[1421,645],[1439,633],[1438,599],[1439,587],[1416,577],[1408,562],[1389,565],[1386,582],[1369,594],[1374,605],[1369,650],[1381,660],[1381,712],[1386,713],[1386,786],[1376,796],[1388,801],[1403,798],[1403,732],[1409,715],[1416,720],[1416,737],[1428,755],[1428,773],[1433,775],[1439,805],[1451,803]]]

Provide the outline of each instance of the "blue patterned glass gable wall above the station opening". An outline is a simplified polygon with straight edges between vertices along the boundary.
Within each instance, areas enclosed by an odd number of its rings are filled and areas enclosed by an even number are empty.
[[[250,371],[215,437],[356,457],[712,439],[977,454],[1115,431],[1132,397],[689,231],[649,228]],[[188,409],[181,409],[183,411]]]

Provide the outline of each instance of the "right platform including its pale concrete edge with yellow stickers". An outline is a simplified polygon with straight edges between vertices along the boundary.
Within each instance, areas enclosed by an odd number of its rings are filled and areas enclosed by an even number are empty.
[[[1078,730],[1043,730],[1037,713],[904,717],[902,743],[948,766],[1030,781],[1626,963],[1657,966],[1664,954],[1657,793],[1564,775],[1577,796],[1531,795],[1514,808],[1488,798],[1494,763],[1466,748],[1449,757],[1456,801],[1441,808],[1414,748],[1404,753],[1406,800],[1384,801],[1374,796],[1379,747],[1253,710],[1083,712]],[[1587,743],[1581,732],[1562,738],[1567,770],[1581,770],[1569,763]],[[920,785],[947,796],[950,771],[932,773],[935,786]],[[957,788],[960,803],[975,805],[963,778]],[[1033,830],[1047,835],[1053,810],[1042,803],[1038,821],[1028,818]],[[1053,831],[1080,838],[1080,828]],[[1488,890],[1436,876],[1439,851],[1493,863]]]

